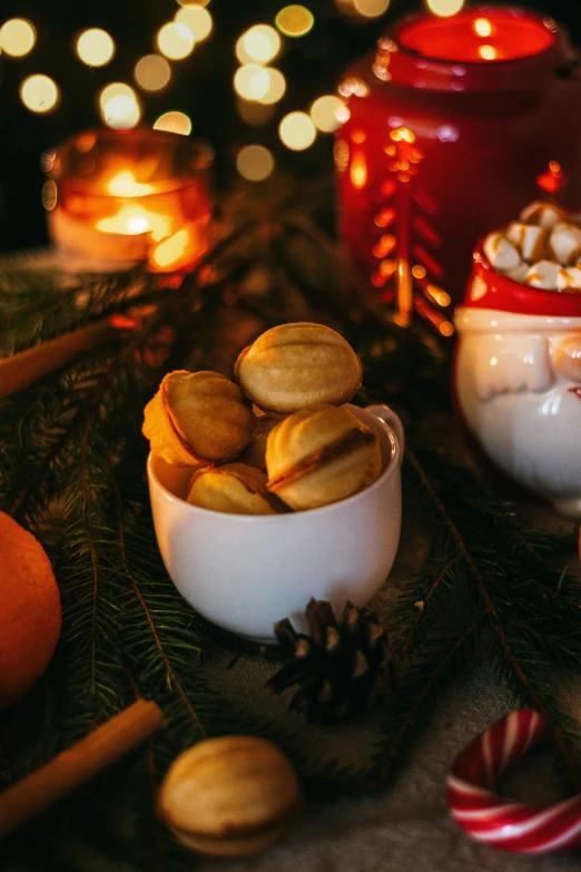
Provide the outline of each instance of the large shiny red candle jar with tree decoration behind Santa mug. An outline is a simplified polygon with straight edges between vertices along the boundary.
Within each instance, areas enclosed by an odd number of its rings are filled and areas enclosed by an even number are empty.
[[[471,253],[530,200],[581,199],[581,81],[552,19],[480,7],[400,21],[339,84],[339,228],[352,261],[441,332]]]

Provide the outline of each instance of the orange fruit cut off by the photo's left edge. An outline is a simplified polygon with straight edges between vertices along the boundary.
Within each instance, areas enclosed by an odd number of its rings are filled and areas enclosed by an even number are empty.
[[[60,595],[47,552],[0,512],[0,711],[40,678],[60,627]]]

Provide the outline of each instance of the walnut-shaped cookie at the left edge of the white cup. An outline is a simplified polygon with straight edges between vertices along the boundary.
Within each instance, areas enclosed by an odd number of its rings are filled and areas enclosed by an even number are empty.
[[[256,419],[237,384],[217,372],[168,373],[146,405],[144,435],[154,454],[177,467],[234,460]]]

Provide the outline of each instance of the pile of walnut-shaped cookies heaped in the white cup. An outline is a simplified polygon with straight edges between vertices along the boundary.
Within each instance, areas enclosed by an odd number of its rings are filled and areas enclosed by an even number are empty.
[[[235,365],[165,376],[145,410],[154,454],[190,467],[188,502],[276,515],[351,497],[382,471],[377,433],[347,403],[362,384],[351,345],[322,324],[263,333]]]

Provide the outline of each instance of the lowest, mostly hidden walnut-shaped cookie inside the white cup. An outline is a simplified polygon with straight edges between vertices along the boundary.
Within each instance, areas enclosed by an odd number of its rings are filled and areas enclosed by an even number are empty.
[[[193,506],[228,515],[276,515],[266,476],[246,463],[226,463],[196,470],[187,501]]]

